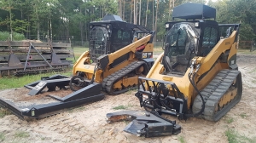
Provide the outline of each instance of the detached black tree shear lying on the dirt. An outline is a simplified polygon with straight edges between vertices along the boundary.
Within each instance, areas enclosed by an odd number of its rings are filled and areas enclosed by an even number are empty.
[[[132,120],[132,122],[125,127],[125,132],[146,138],[179,134],[181,132],[181,126],[176,124],[175,121],[161,117],[158,113],[124,111],[107,114],[108,123],[121,120]]]

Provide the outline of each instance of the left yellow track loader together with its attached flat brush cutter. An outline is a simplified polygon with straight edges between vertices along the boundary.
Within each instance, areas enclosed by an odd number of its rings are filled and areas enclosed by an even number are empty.
[[[71,79],[61,75],[42,77],[25,86],[31,89],[28,94],[0,94],[0,106],[23,119],[41,118],[102,100],[102,91],[121,94],[134,89],[137,77],[146,76],[154,64],[153,38],[154,31],[108,14],[101,21],[90,22],[90,49],[74,64]],[[68,86],[73,93],[50,93]]]

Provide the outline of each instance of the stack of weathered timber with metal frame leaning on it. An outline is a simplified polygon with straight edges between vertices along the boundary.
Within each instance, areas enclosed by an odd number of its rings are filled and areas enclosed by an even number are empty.
[[[0,41],[0,77],[58,72],[72,65],[71,43]]]

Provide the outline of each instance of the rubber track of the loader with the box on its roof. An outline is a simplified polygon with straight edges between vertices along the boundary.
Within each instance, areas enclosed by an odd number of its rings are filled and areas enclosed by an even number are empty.
[[[236,98],[231,100],[228,105],[225,105],[220,111],[215,112],[216,106],[218,106],[218,100],[220,100],[228,89],[230,89],[231,84],[236,80],[239,73],[240,72],[236,70],[222,70],[218,72],[217,76],[212,79],[211,83],[209,83],[205,89],[201,90],[201,94],[206,104],[205,110],[200,117],[210,121],[218,121],[220,117],[223,117],[236,105],[236,103],[239,102],[241,97],[237,96],[241,96],[241,94],[239,94],[239,87],[237,87]],[[239,85],[240,83],[238,83],[238,86]],[[198,94],[195,97],[192,111],[194,113],[199,112],[201,110],[201,105],[201,97]]]

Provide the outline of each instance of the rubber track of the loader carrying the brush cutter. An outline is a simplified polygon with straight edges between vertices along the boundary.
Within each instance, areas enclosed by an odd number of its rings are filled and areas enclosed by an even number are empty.
[[[125,77],[128,73],[134,71],[137,67],[142,66],[145,64],[144,61],[134,61],[128,66],[123,67],[118,72],[113,72],[113,74],[109,75],[108,77],[103,79],[102,82],[102,89],[107,91],[108,94],[122,94],[128,91],[129,89],[122,89],[119,91],[112,92],[113,83],[117,82],[120,78]],[[137,87],[131,87],[130,89],[137,89]]]

